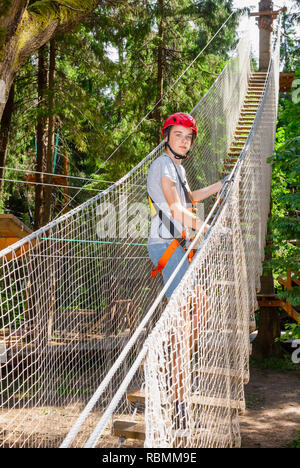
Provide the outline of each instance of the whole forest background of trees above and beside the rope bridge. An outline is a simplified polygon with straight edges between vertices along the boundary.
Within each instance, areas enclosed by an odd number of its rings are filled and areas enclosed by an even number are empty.
[[[300,0],[293,3],[300,6]],[[24,11],[27,22],[20,23]],[[12,71],[0,124],[1,212],[37,229],[125,175],[160,142],[163,118],[189,112],[210,88],[237,44],[245,12],[234,10],[230,0],[1,1],[3,63],[12,36],[19,34],[6,67]],[[295,71],[296,86],[280,94],[270,161],[272,258],[265,269],[271,269],[279,293],[279,275],[292,270],[300,277],[299,21],[297,12],[283,14],[281,71]],[[57,186],[51,174],[68,175],[60,181],[65,186]],[[71,188],[83,185],[79,192]],[[299,287],[282,297],[297,307]],[[300,338],[299,326],[286,319],[285,326]]]

